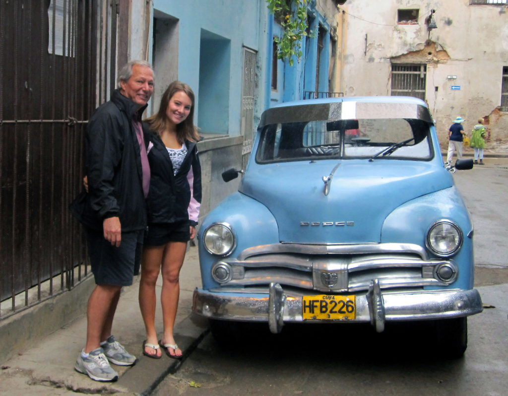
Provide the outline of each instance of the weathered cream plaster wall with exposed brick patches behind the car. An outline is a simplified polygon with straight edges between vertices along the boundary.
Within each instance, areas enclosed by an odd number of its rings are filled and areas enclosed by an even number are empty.
[[[392,62],[426,63],[426,100],[442,146],[458,115],[466,119],[466,131],[491,115],[491,143],[508,142],[507,113],[497,109],[502,68],[508,66],[506,7],[470,6],[468,0],[348,0],[341,8],[347,21],[341,70],[346,96],[390,95]],[[397,24],[398,9],[419,9],[419,23]],[[437,28],[429,34],[425,18],[432,9]]]

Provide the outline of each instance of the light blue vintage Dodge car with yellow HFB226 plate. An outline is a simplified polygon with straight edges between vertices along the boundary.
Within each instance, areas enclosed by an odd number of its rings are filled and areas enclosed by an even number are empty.
[[[467,347],[473,226],[425,102],[357,97],[283,103],[260,120],[237,192],[199,231],[193,311],[227,321],[432,321],[434,345]]]

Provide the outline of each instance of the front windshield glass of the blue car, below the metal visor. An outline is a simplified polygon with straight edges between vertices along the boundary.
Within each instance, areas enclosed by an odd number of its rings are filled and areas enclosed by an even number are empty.
[[[330,158],[424,161],[432,155],[429,124],[425,121],[362,118],[265,125],[256,161]]]

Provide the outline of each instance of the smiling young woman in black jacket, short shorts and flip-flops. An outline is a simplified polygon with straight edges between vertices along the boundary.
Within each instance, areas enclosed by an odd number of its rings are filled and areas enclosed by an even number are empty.
[[[201,202],[201,166],[193,123],[194,93],[187,84],[173,81],[158,112],[146,121],[154,133],[148,148],[150,191],[148,231],[145,237],[139,286],[139,306],[145,323],[143,354],[181,358],[173,337],[180,286],[178,277],[187,241],[194,238]],[[162,272],[161,304],[164,334],[155,331],[155,283]]]

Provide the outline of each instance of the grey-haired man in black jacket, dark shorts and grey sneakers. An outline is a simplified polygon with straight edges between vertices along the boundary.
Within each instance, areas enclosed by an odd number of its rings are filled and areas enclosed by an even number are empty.
[[[110,363],[133,365],[112,335],[120,289],[139,271],[146,228],[150,168],[148,131],[141,114],[153,93],[153,71],[133,60],[118,76],[118,89],[89,120],[85,140],[88,194],[82,210],[96,287],[88,299],[86,345],[74,368],[96,381],[115,381]],[[79,212],[79,213],[78,213]]]

